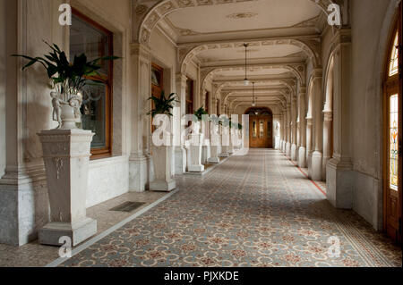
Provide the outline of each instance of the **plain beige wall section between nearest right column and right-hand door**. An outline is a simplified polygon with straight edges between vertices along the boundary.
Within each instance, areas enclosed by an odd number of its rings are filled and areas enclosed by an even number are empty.
[[[382,228],[382,68],[389,28],[382,30],[391,2],[351,2],[352,79],[350,122],[355,171],[354,210]]]

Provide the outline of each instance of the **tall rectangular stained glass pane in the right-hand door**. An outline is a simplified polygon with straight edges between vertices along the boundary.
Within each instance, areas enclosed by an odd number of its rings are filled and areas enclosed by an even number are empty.
[[[399,95],[390,96],[390,189],[399,185]]]

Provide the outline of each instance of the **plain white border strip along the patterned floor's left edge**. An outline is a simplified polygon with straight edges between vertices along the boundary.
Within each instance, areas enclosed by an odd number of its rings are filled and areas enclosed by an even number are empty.
[[[137,212],[137,213],[133,214],[132,216],[124,219],[124,221],[116,223],[116,225],[114,225],[113,227],[109,228],[107,231],[104,231],[104,232],[100,233],[97,237],[95,237],[93,239],[90,239],[89,241],[83,243],[80,247],[75,247],[73,249],[73,252],[72,252],[72,257],[78,255],[79,253],[81,253],[81,251],[83,251],[83,250],[87,249],[88,247],[92,246],[93,244],[97,243],[100,239],[106,238],[112,232],[114,232],[116,230],[119,230],[120,228],[122,228],[128,222],[132,222],[134,219],[136,219],[139,216],[141,216],[141,214],[145,214],[146,212],[150,211],[150,209],[152,209],[156,205],[159,205],[160,203],[164,202],[165,200],[167,200],[167,198],[172,197],[178,191],[179,191],[179,189],[176,189],[176,190],[168,193],[166,196],[161,197],[159,200],[155,201],[154,203],[151,203],[150,205],[144,207],[139,212]],[[70,258],[68,258],[68,257],[60,257],[60,258],[57,258],[55,261],[51,262],[50,264],[47,264],[45,267],[57,267],[58,265],[63,264],[64,262],[66,262],[69,259]]]

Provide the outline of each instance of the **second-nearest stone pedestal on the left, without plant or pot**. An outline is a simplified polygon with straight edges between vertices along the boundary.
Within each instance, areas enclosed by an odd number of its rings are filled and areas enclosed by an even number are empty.
[[[172,170],[173,155],[174,147],[151,147],[155,180],[150,182],[150,191],[170,192],[176,189],[176,181]]]

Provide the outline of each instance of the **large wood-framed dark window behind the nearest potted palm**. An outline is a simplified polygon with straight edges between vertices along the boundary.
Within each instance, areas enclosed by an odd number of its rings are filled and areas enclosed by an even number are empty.
[[[113,54],[113,34],[85,15],[73,10],[70,29],[70,59],[86,54],[89,60]],[[92,159],[112,155],[112,79],[113,61],[101,63],[99,84],[87,85],[81,106],[81,127],[95,133],[91,143]]]

